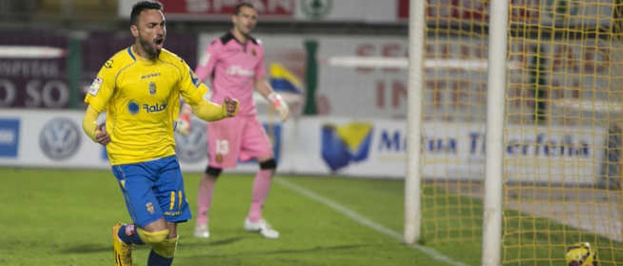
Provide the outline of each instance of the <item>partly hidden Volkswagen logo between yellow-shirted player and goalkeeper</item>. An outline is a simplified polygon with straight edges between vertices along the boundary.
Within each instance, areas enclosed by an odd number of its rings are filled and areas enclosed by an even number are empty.
[[[186,163],[207,160],[206,124],[197,119],[191,120],[191,132],[188,136],[175,133],[175,152],[179,160]]]

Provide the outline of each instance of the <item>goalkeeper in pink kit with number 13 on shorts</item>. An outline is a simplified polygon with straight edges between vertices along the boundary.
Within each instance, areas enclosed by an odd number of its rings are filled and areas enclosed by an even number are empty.
[[[262,43],[249,35],[257,22],[254,6],[246,2],[238,4],[231,19],[234,24],[232,30],[208,45],[195,71],[199,80],[211,79],[212,102],[220,104],[225,98],[236,98],[240,109],[237,117],[207,124],[209,162],[199,183],[194,236],[210,236],[207,214],[214,185],[222,169],[234,168],[238,160],[255,158],[259,162],[259,170],[255,175],[244,228],[259,232],[263,237],[277,239],[279,233],[262,219],[262,207],[277,163],[272,144],[257,120],[253,89],[257,89],[277,109],[282,121],[288,117],[288,106],[265,78]]]

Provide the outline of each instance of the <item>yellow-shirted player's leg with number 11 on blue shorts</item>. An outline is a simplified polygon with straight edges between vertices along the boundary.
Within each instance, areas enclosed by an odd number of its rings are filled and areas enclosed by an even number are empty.
[[[192,217],[177,157],[161,158],[155,162],[157,165],[154,172],[157,173],[157,179],[153,191],[164,219],[157,224],[154,231],[162,232],[160,229],[164,227],[167,234],[163,239],[151,242],[147,265],[171,265],[178,244],[177,223],[188,221]],[[150,231],[150,228],[146,227],[145,230]]]

